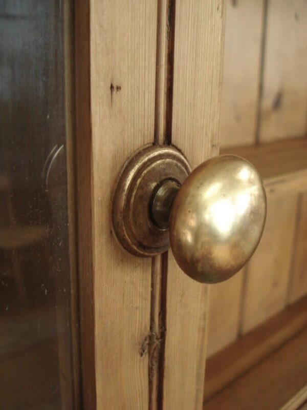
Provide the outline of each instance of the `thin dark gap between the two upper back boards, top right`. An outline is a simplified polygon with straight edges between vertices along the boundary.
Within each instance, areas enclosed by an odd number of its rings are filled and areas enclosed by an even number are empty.
[[[268,0],[264,0],[263,14],[262,14],[262,39],[261,39],[261,52],[260,52],[260,69],[259,69],[259,88],[258,88],[258,101],[257,101],[257,119],[255,129],[255,143],[260,143],[260,121],[261,121],[261,103],[263,96],[263,81],[264,81],[264,68],[265,68],[265,53],[266,53],[266,39],[267,39],[267,25],[268,25]]]

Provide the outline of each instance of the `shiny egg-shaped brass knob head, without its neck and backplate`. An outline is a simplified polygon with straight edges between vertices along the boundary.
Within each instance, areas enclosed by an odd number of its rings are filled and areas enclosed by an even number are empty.
[[[230,278],[257,248],[266,207],[261,178],[251,163],[233,155],[202,163],[172,205],[170,243],[180,268],[199,282]]]

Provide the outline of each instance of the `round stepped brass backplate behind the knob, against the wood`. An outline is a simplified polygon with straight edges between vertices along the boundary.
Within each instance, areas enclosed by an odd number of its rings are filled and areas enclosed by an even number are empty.
[[[167,251],[168,229],[152,222],[152,199],[163,181],[182,185],[189,173],[187,159],[173,146],[147,145],[127,160],[114,191],[112,226],[129,253],[148,257]]]

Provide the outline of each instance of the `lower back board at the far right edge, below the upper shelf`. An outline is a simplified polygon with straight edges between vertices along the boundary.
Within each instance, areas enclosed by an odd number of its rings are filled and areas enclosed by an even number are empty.
[[[307,294],[307,193],[299,198],[289,302]]]

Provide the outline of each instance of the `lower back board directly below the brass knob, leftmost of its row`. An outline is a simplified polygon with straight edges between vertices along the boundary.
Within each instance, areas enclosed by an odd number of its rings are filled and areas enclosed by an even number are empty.
[[[242,269],[225,282],[209,285],[207,357],[238,336],[244,274]]]

